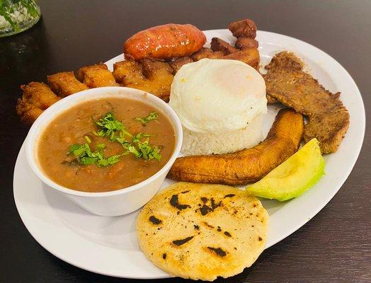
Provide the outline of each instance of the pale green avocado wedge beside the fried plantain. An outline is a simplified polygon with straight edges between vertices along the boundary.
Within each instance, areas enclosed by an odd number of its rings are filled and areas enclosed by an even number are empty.
[[[261,180],[246,187],[256,197],[284,202],[299,197],[324,175],[319,142],[311,139]]]

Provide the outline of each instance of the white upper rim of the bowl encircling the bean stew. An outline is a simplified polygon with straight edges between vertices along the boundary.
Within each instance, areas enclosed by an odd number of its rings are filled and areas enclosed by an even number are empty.
[[[113,93],[107,93],[109,91],[112,91]],[[149,98],[149,100],[155,101],[156,103],[154,103],[154,105],[152,106],[156,109],[161,110],[164,113],[164,115],[166,115],[166,117],[169,120],[171,120],[174,127],[176,141],[173,153],[171,154],[169,160],[164,164],[164,166],[162,166],[162,168],[159,171],[154,173],[154,175],[150,176],[149,178],[143,180],[140,183],[108,192],[83,192],[79,190],[73,190],[69,189],[68,187],[64,187],[63,185],[59,185],[58,183],[55,183],[55,181],[51,180],[40,168],[40,165],[38,164],[35,154],[35,147],[38,144],[38,137],[43,132],[42,130],[38,131],[40,128],[40,124],[43,123],[45,125],[49,125],[50,122],[52,122],[52,120],[54,120],[58,115],[62,114],[62,112],[68,110],[69,108],[74,107],[75,105],[78,105],[79,103],[86,103],[89,100],[102,98],[103,96],[106,97],[122,96],[122,98],[125,98],[125,93],[127,92],[134,94],[134,96],[144,96],[146,98]],[[84,99],[81,98],[81,96],[85,97],[90,96],[90,99],[89,98]],[[79,100],[80,98],[81,100]],[[79,100],[79,102],[73,104],[74,101],[76,100]],[[165,110],[167,112],[165,112]],[[45,120],[47,122],[45,122]],[[129,193],[134,190],[139,190],[140,188],[149,185],[157,178],[160,178],[161,175],[166,173],[166,171],[169,171],[169,169],[175,162],[176,158],[178,157],[179,152],[181,151],[181,145],[183,142],[183,130],[181,126],[181,120],[179,120],[179,117],[178,115],[176,115],[176,112],[173,110],[173,108],[171,108],[168,105],[168,103],[164,102],[164,100],[161,100],[157,96],[154,96],[151,93],[147,93],[146,91],[141,91],[136,88],[127,88],[124,86],[104,86],[101,88],[90,88],[85,91],[80,91],[79,93],[74,93],[71,96],[67,96],[66,98],[63,98],[57,101],[57,103],[51,105],[44,112],[42,112],[42,114],[38,117],[38,119],[35,120],[35,122],[33,122],[33,125],[30,127],[30,130],[28,131],[28,135],[26,137],[25,142],[26,142],[25,154],[28,161],[28,165],[32,169],[33,173],[35,173],[35,175],[40,180],[42,180],[43,183],[45,183],[49,187],[52,187],[52,189],[58,190],[59,192],[64,192],[67,195],[74,195],[79,197],[110,197],[114,195],[122,195],[125,193]]]

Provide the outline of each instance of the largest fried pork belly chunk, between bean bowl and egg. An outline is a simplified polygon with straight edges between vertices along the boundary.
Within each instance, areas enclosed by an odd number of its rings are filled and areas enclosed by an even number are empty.
[[[169,101],[173,68],[166,63],[153,59],[141,62],[122,61],[113,65],[113,76],[122,86],[137,88]]]

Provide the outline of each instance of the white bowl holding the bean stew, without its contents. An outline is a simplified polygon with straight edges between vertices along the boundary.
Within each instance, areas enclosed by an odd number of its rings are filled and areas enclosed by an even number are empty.
[[[74,105],[83,103],[89,100],[97,98],[131,98],[135,100],[149,103],[157,110],[161,111],[169,118],[173,125],[176,142],[173,154],[169,161],[163,168],[156,174],[152,175],[147,180],[125,187],[120,190],[114,190],[111,192],[80,192],[77,190],[71,190],[67,187],[63,187],[51,180],[40,168],[37,156],[37,146],[40,139],[40,134],[44,131],[45,127],[55,119],[59,114],[71,108]],[[80,207],[87,211],[102,216],[118,216],[122,214],[128,214],[130,212],[139,209],[146,204],[159,190],[161,184],[166,178],[171,166],[173,165],[176,157],[181,150],[181,144],[183,141],[181,121],[179,120],[176,113],[171,109],[167,103],[163,100],[153,96],[152,94],[144,91],[139,91],[134,88],[124,88],[120,86],[110,86],[104,88],[92,88],[87,91],[81,91],[67,98],[59,100],[57,103],[47,108],[45,112],[38,117],[33,123],[33,126],[28,132],[28,137],[25,144],[25,152],[30,168],[33,170],[35,175],[42,180],[43,183],[50,187],[50,190],[57,190],[62,195],[75,202]]]

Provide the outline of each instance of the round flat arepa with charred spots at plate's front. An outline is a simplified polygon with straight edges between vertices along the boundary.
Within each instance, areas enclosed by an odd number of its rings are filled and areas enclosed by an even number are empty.
[[[236,275],[263,252],[268,213],[227,185],[176,183],[139,213],[143,253],[173,276],[212,281]]]

